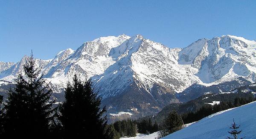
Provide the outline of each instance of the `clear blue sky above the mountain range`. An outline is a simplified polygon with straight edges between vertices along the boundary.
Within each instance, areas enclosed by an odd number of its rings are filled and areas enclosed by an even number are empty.
[[[225,34],[256,39],[256,0],[0,0],[0,61],[50,59],[100,36],[186,47]]]

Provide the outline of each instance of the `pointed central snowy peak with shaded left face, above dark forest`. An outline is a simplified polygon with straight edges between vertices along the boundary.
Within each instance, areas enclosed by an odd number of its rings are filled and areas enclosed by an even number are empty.
[[[144,39],[141,35],[133,36],[110,51],[115,63],[95,77],[96,89],[104,98],[124,92],[132,83],[149,94],[153,86],[162,86],[168,90],[166,92],[182,91],[198,79],[177,64],[179,51]],[[166,92],[159,90],[158,93]]]

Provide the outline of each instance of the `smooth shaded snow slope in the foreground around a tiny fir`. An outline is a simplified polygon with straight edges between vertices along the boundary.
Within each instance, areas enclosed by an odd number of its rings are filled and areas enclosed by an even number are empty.
[[[239,137],[256,139],[256,101],[212,114],[162,139],[226,139],[233,118],[238,125],[241,119]]]

